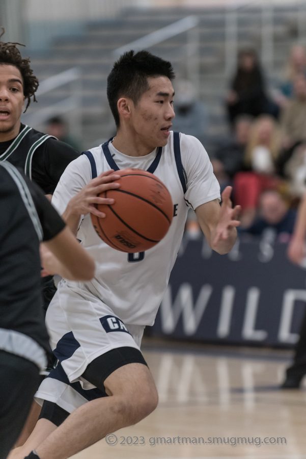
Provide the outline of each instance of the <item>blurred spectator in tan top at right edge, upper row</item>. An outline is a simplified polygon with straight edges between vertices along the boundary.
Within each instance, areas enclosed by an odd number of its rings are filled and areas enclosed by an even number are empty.
[[[294,96],[281,112],[284,148],[306,140],[306,77],[299,73],[294,79]]]

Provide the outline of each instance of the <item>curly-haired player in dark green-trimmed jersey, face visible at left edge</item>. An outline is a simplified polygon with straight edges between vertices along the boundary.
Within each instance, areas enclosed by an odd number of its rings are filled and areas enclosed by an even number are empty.
[[[0,35],[1,37],[1,35]],[[36,101],[38,80],[29,59],[23,59],[15,43],[0,41],[0,162],[19,167],[51,198],[66,166],[78,157],[70,145],[21,123],[21,113]],[[46,310],[56,289],[53,278],[42,280]],[[48,367],[52,367],[48,356]]]

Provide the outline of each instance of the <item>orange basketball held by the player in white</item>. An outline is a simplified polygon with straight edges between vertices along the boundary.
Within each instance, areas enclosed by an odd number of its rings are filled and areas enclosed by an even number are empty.
[[[116,171],[120,188],[100,197],[114,198],[112,205],[97,205],[106,214],[91,214],[98,236],[110,247],[123,252],[143,252],[156,245],[168,232],[173,217],[171,195],[163,183],[141,169]]]

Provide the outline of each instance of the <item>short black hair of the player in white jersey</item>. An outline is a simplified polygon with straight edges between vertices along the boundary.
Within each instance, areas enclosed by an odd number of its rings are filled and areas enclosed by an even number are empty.
[[[107,99],[117,127],[120,125],[118,99],[126,96],[137,104],[149,89],[148,77],[167,77],[172,81],[175,73],[170,62],[145,50],[135,53],[131,49],[115,62],[107,78]]]

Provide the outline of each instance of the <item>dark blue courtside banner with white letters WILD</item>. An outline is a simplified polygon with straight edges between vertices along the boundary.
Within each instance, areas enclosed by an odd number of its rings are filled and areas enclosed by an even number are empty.
[[[227,255],[184,239],[150,335],[292,347],[306,305],[306,270],[267,233]]]

